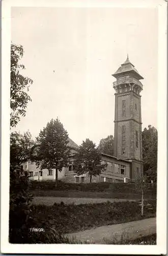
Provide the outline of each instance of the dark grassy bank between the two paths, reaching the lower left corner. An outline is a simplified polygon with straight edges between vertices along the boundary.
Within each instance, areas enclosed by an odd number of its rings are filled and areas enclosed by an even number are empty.
[[[138,202],[115,202],[88,205],[54,204],[53,206],[32,205],[30,220],[22,229],[15,229],[11,243],[71,243],[64,234],[141,220],[156,216],[156,201],[150,200],[150,209],[145,207],[141,216]],[[32,217],[31,217],[32,216]],[[32,232],[30,228],[43,228],[45,232]]]

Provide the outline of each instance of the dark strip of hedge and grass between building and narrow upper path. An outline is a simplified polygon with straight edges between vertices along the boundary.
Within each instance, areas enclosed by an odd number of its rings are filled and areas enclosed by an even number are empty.
[[[116,199],[140,199],[134,183],[64,183],[59,181],[55,188],[52,181],[31,181],[31,193],[41,197],[74,197],[74,198],[116,198]],[[156,198],[156,186],[149,184],[145,198]]]

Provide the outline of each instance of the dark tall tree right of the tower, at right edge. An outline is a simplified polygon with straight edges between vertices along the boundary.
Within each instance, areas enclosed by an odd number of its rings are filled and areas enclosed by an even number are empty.
[[[142,132],[144,174],[148,179],[157,180],[157,130],[148,125]]]

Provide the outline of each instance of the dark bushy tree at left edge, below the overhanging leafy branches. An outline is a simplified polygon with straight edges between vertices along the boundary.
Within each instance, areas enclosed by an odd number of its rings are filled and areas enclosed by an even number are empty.
[[[20,134],[13,132],[10,136],[10,167],[19,168],[22,163],[30,159],[30,151],[34,141],[30,132]]]

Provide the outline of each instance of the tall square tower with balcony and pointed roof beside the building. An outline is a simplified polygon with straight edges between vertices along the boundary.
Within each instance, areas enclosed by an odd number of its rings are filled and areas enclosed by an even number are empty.
[[[114,155],[132,162],[130,179],[143,174],[141,95],[144,79],[128,56],[113,74],[115,93],[115,145]]]

